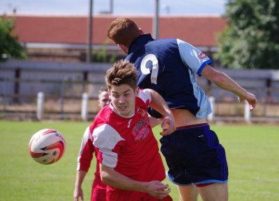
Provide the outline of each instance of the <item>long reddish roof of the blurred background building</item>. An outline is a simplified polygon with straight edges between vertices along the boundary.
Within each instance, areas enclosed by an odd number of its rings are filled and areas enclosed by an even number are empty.
[[[116,15],[93,16],[93,45],[113,45],[107,27]],[[152,33],[153,16],[128,16],[144,33]],[[158,38],[179,38],[197,47],[216,47],[216,35],[226,26],[220,16],[169,16],[159,19]],[[15,34],[20,42],[86,45],[88,17],[16,16]]]

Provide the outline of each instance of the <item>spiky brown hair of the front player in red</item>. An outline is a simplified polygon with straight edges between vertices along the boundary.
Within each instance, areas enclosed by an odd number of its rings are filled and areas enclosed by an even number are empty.
[[[112,86],[120,86],[123,83],[131,88],[137,88],[137,69],[129,61],[117,61],[114,66],[107,70],[105,82],[109,90]]]

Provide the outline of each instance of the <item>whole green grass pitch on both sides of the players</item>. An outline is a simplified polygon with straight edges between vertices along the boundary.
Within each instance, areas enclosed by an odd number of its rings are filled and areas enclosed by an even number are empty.
[[[88,122],[0,121],[0,201],[73,200],[80,140]],[[31,159],[28,143],[43,128],[61,131],[67,141],[63,158],[52,165]],[[229,163],[229,200],[279,201],[279,127],[275,125],[213,125]],[[159,138],[158,134],[156,136]],[[95,160],[83,184],[89,201]],[[179,200],[176,186],[172,198]]]

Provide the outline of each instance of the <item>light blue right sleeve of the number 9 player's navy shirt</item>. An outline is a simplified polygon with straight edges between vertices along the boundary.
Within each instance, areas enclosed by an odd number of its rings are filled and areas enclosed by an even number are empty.
[[[211,63],[210,58],[193,45],[179,39],[176,41],[183,63],[200,76],[204,66]]]

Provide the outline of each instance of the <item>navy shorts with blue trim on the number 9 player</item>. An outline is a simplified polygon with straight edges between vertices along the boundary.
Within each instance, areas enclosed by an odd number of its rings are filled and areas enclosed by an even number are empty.
[[[179,186],[226,183],[228,177],[225,150],[209,124],[181,127],[160,139],[167,177]]]

